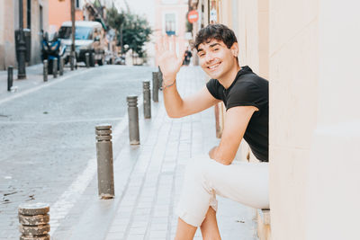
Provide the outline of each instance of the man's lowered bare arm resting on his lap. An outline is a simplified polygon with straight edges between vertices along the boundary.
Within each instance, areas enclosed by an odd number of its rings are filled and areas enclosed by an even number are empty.
[[[220,144],[213,147],[209,156],[220,164],[229,165],[235,158],[238,146],[244,137],[247,124],[255,111],[253,106],[239,106],[230,108],[225,115],[224,130]]]

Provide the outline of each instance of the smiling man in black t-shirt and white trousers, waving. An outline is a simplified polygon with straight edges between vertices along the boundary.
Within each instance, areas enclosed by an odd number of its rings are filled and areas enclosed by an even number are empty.
[[[176,89],[182,58],[175,48],[170,49],[167,39],[157,46],[166,112],[180,118],[222,101],[226,116],[219,146],[194,156],[186,168],[175,239],[193,239],[197,227],[203,239],[220,239],[216,195],[257,209],[269,207],[268,82],[250,67],[239,67],[238,41],[225,25],[203,28],[193,47],[211,80],[199,93],[183,99]],[[243,138],[259,163],[233,162]]]

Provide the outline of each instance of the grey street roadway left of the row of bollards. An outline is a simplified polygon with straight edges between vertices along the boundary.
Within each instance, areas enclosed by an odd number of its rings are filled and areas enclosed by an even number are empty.
[[[141,82],[151,80],[155,70],[90,68],[0,102],[0,239],[19,236],[20,203],[36,200],[51,205],[58,200],[95,158],[95,125],[121,122],[127,111],[126,96],[140,95]],[[116,156],[121,146],[113,148]]]

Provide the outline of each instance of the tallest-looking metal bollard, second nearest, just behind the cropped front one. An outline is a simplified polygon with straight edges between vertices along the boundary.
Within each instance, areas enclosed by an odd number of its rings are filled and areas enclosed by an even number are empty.
[[[113,184],[112,125],[98,125],[95,127],[95,133],[99,196],[103,200],[108,200],[115,196]]]

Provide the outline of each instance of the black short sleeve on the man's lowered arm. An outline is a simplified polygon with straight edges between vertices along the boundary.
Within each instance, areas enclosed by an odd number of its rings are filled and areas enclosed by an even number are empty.
[[[260,111],[264,97],[257,84],[238,81],[229,92],[227,110],[238,106],[254,106]]]

